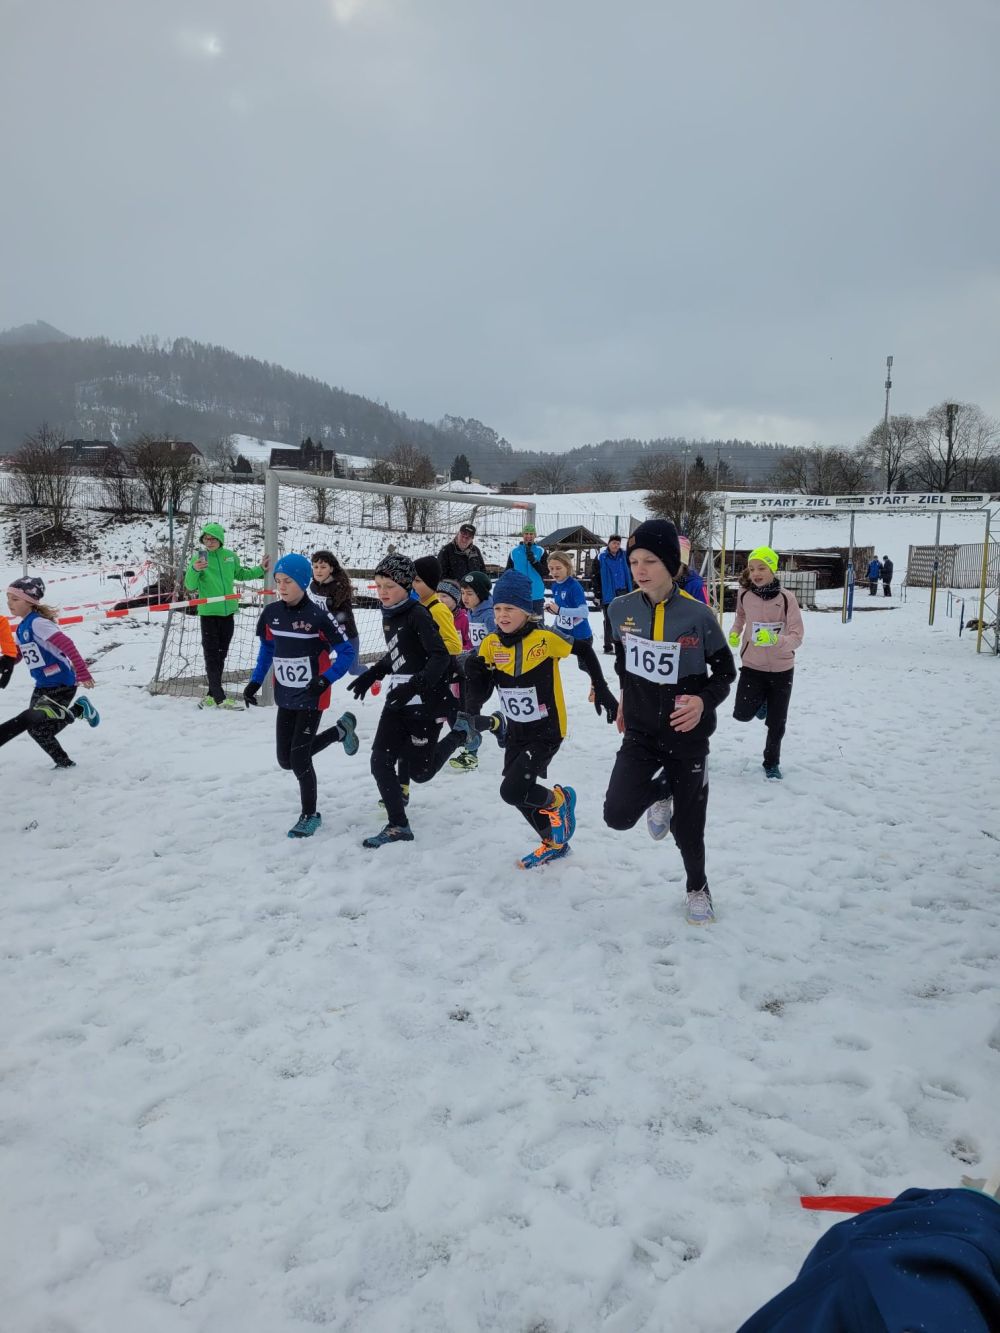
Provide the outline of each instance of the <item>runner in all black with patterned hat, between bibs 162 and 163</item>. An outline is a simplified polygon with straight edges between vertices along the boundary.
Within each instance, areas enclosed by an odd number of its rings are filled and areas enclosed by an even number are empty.
[[[388,824],[364,838],[367,848],[413,841],[407,820],[408,782],[400,781],[397,766],[404,765],[415,782],[433,777],[440,768],[436,742],[441,718],[455,717],[455,697],[448,689],[452,659],[431,612],[409,596],[415,575],[413,561],[400,555],[385,556],[375,571],[388,651],[348,685],[355,698],[364,698],[377,680],[388,677],[389,685],[372,741],[372,776]]]

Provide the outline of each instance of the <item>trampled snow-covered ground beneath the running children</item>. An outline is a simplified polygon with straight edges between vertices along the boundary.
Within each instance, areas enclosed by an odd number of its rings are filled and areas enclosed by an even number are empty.
[[[491,741],[365,852],[359,706],[293,844],[272,716],[151,698],[157,627],[76,627],[79,766],[0,756],[3,1328],[731,1333],[835,1220],[800,1194],[995,1164],[1000,663],[867,601],[807,616],[783,784],[723,709],[708,930],[672,844],[603,826],[572,668],[580,828],[528,876]]]

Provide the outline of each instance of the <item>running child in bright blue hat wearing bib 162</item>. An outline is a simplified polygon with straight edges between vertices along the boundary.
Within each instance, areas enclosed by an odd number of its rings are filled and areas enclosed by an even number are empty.
[[[348,754],[357,753],[357,720],[343,713],[333,726],[320,732],[329,706],[329,686],[351,668],[355,649],[325,607],[308,595],[312,565],[305,556],[281,556],[275,565],[279,600],[257,617],[257,664],[243,692],[245,704],[257,702],[257,692],[269,670],[275,673],[275,742],[277,762],[299,780],[301,812],[289,837],[312,837],[323,822],[316,809],[315,754],[343,741]]]

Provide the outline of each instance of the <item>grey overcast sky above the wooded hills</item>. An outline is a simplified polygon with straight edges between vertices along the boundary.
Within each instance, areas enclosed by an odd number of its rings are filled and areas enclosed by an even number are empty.
[[[0,0],[0,328],[516,447],[1000,416],[1000,0]]]

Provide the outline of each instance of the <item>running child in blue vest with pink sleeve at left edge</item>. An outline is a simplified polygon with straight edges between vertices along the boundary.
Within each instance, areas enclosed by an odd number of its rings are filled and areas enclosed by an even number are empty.
[[[27,732],[56,768],[75,768],[56,736],[81,718],[91,726],[100,721],[89,698],[73,701],[77,685],[93,689],[93,676],[73,641],[55,623],[56,612],[44,604],[44,596],[45,584],[37,577],[15,579],[7,589],[11,615],[21,617],[15,640],[20,659],[35,681],[35,689],[24,712],[0,725],[0,745],[7,745],[15,736]],[[13,659],[7,651],[3,661],[9,661],[12,669]],[[8,680],[9,670],[4,685]]]

